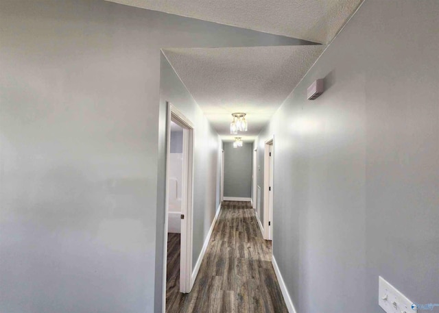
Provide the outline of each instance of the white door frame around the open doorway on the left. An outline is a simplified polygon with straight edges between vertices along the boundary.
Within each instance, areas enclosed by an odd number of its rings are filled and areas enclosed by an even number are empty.
[[[174,105],[167,102],[167,142],[166,142],[166,191],[165,191],[165,242],[163,258],[163,312],[166,309],[166,267],[167,267],[167,221],[169,212],[169,153],[171,151],[171,121],[183,128],[182,166],[182,215],[180,237],[180,292],[191,291],[192,236],[193,236],[193,124]]]

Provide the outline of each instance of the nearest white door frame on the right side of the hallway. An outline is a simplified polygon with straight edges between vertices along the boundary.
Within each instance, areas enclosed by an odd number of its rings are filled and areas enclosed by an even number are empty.
[[[272,155],[270,157],[270,146]],[[270,165],[274,173],[274,135],[265,140],[263,158],[263,238],[272,240],[273,228],[273,181],[270,181]],[[271,188],[270,188],[271,187]],[[270,190],[271,189],[271,190]]]

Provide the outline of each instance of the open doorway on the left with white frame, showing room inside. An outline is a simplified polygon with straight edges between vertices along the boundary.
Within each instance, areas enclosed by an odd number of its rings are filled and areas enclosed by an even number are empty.
[[[167,297],[190,292],[192,285],[192,155],[192,123],[168,103],[163,290],[167,312],[173,310],[168,308]]]

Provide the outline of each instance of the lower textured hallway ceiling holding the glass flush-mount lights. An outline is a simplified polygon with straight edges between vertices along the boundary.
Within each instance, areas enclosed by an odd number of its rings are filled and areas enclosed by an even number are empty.
[[[324,45],[165,49],[167,59],[223,140],[233,112],[246,112],[253,140],[300,82]]]

